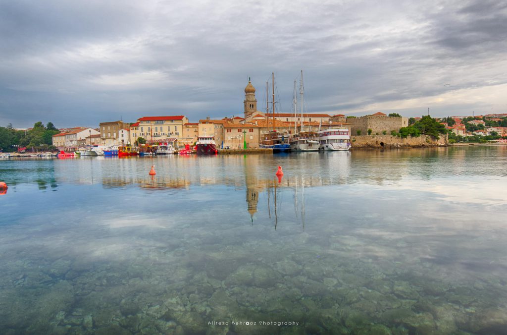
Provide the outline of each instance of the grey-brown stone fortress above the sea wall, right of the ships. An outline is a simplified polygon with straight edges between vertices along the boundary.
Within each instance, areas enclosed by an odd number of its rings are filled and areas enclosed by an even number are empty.
[[[351,125],[352,135],[356,135],[359,130],[361,135],[367,135],[368,129],[372,129],[372,135],[382,135],[383,131],[390,134],[392,130],[399,131],[401,127],[409,125],[409,119],[406,117],[387,116],[378,112],[373,115],[361,117],[348,117],[347,123]]]

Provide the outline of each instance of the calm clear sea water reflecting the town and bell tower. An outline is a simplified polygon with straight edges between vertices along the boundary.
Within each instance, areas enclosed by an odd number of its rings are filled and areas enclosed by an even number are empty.
[[[506,147],[11,159],[0,181],[3,334],[507,332]]]

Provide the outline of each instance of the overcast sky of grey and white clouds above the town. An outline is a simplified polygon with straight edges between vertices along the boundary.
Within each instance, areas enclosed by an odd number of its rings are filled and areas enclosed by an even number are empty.
[[[507,113],[502,1],[0,0],[0,125],[291,111]]]

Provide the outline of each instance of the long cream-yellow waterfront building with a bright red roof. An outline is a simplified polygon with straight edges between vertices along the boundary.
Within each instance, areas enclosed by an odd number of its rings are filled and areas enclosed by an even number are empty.
[[[188,118],[183,115],[138,118],[137,122],[130,127],[133,134],[131,143],[142,137],[146,140],[146,143],[173,142],[178,147],[183,146],[186,143],[183,135],[183,125],[188,122]]]

